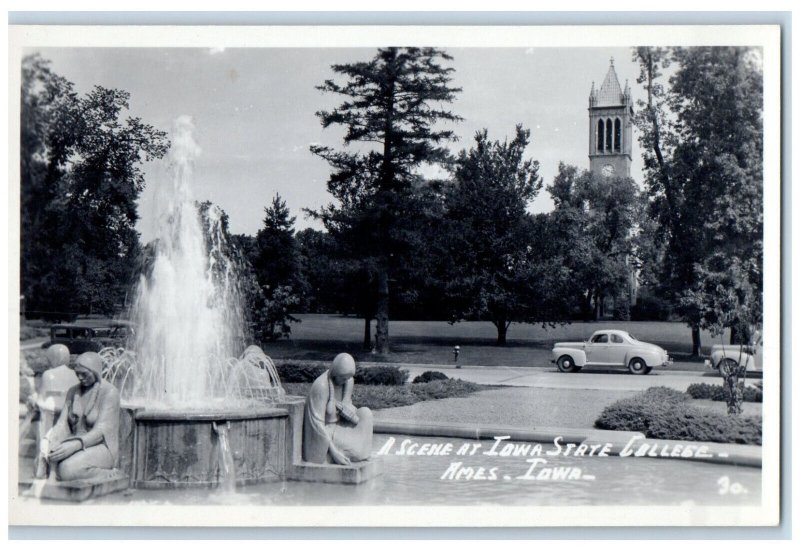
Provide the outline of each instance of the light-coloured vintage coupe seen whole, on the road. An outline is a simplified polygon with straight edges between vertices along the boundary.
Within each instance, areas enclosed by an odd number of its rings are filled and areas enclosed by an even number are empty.
[[[627,367],[634,375],[647,375],[654,367],[668,366],[667,351],[654,344],[636,340],[627,331],[595,331],[588,341],[557,342],[550,360],[559,371],[574,373],[582,368]]]

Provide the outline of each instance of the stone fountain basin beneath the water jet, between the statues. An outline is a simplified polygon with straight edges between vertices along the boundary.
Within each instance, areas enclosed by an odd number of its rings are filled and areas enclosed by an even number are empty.
[[[220,486],[226,482],[220,439],[227,438],[237,486],[285,479],[299,460],[303,404],[285,396],[207,410],[123,405],[120,467],[135,488]]]

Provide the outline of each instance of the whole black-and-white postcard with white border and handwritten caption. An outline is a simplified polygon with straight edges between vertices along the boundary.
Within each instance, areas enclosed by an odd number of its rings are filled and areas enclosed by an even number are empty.
[[[11,524],[778,523],[778,26],[9,32]]]

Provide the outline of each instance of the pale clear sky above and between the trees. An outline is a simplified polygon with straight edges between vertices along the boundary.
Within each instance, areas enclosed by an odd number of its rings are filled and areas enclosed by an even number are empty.
[[[315,113],[342,98],[315,87],[336,78],[331,65],[365,61],[374,49],[359,48],[49,48],[36,50],[79,92],[92,86],[130,92],[130,115],[162,130],[189,115],[202,149],[194,167],[194,195],[229,215],[233,233],[254,235],[276,193],[286,201],[295,228],[320,228],[303,208],[332,197],[325,189],[327,163],[309,145],[341,147],[339,128],[322,128]],[[477,131],[491,139],[513,137],[521,123],[531,130],[528,158],[539,161],[544,185],[559,162],[588,168],[588,96],[600,85],[610,58],[620,84],[630,81],[643,96],[629,48],[448,48],[462,88],[449,109],[464,118],[448,125],[459,136],[454,152],[469,148]],[[635,131],[634,131],[635,135]],[[634,140],[631,175],[641,181]],[[144,166],[137,228],[145,242],[156,235],[158,186],[170,178],[166,161]],[[545,189],[529,206],[553,208]]]

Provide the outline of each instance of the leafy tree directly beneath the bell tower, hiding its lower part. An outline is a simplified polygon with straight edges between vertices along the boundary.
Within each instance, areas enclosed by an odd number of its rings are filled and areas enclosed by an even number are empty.
[[[553,217],[560,222],[556,242],[579,284],[584,319],[599,319],[606,298],[617,306],[629,304],[641,207],[636,184],[630,178],[579,173],[561,163],[547,189],[556,206]]]

